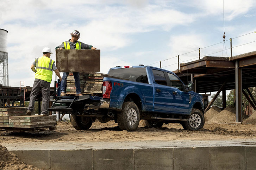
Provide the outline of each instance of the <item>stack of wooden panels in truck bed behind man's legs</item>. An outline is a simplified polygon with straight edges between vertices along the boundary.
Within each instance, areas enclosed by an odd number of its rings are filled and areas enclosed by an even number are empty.
[[[102,94],[103,77],[101,73],[80,73],[80,88],[83,94]],[[69,73],[67,79],[67,94],[76,94],[75,79],[73,73]]]

